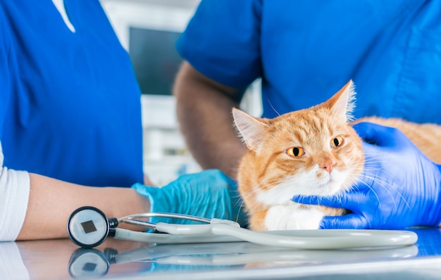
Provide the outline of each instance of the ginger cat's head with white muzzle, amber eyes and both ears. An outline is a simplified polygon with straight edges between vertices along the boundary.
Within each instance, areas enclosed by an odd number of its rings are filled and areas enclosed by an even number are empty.
[[[353,95],[349,82],[325,103],[271,120],[233,110],[249,149],[238,173],[245,203],[277,205],[349,189],[364,166],[361,139],[348,125]]]

